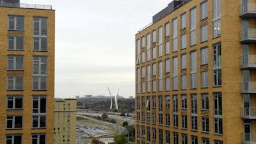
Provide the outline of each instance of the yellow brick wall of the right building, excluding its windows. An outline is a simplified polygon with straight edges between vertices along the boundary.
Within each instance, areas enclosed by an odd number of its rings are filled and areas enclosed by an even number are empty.
[[[213,38],[212,29],[212,8],[214,0],[191,0],[185,1],[185,4],[181,4],[179,8],[175,9],[172,13],[159,19],[145,29],[142,29],[136,34],[135,45],[136,45],[136,143],[161,143],[161,136],[159,136],[159,131],[163,131],[163,141],[166,143],[166,131],[170,131],[170,143],[174,143],[173,132],[178,134],[179,143],[182,143],[182,134],[187,134],[188,143],[193,143],[192,138],[196,136],[197,143],[203,143],[203,140],[209,140],[209,143],[227,143],[227,144],[238,144],[238,143],[253,143],[255,140],[256,132],[255,118],[241,118],[241,108],[244,107],[243,95],[250,95],[250,108],[255,108],[255,93],[254,92],[241,92],[241,82],[243,81],[243,70],[250,70],[250,81],[255,81],[255,70],[250,68],[245,68],[242,70],[240,68],[240,58],[242,55],[242,44],[249,45],[250,54],[256,54],[255,51],[255,41],[253,42],[240,42],[239,31],[242,27],[243,16],[239,16],[239,6],[241,6],[241,1],[231,0],[218,0],[221,3],[221,36],[216,36]],[[207,17],[205,19],[200,19],[200,4],[207,2]],[[255,6],[255,1],[249,1],[252,6]],[[157,3],[156,3],[157,4]],[[196,8],[196,44],[190,45],[190,11]],[[255,12],[255,9],[253,9]],[[186,28],[180,29],[180,16],[186,13]],[[172,51],[173,48],[173,19],[177,18],[177,51]],[[255,15],[248,18],[250,22],[250,28],[256,28],[255,25]],[[169,22],[170,35],[165,36],[165,24]],[[208,35],[205,42],[201,42],[201,26],[208,25]],[[159,36],[158,29],[163,28],[163,56],[159,56]],[[152,43],[152,31],[156,30],[156,42]],[[150,34],[150,60],[147,61],[147,34]],[[186,48],[181,49],[181,35],[186,33]],[[145,39],[142,39],[144,36]],[[255,36],[253,37],[255,38]],[[141,42],[145,40],[145,47],[142,46]],[[140,42],[140,44],[138,44]],[[170,42],[170,53],[165,54],[164,47],[165,42]],[[216,44],[221,45],[221,85],[214,86],[214,52],[213,47]],[[156,58],[152,59],[152,48],[156,47]],[[201,50],[207,47],[208,63],[201,65]],[[138,51],[139,50],[139,51]],[[141,57],[144,52],[145,62],[142,62]],[[196,88],[191,88],[191,52],[196,52]],[[186,54],[186,68],[181,69],[181,55]],[[140,60],[138,60],[138,57]],[[173,90],[173,57],[177,57],[177,76],[178,76],[178,86],[177,90]],[[165,70],[165,60],[170,59],[170,72],[164,72]],[[139,61],[139,62],[138,62]],[[163,90],[159,92],[159,61],[163,62]],[[152,76],[152,64],[156,63],[156,76]],[[147,92],[147,65],[150,65],[150,92]],[[142,77],[142,67],[145,67],[145,77]],[[139,70],[139,71],[138,71]],[[208,71],[208,86],[202,88],[201,86],[201,72]],[[185,90],[181,89],[181,76],[186,75],[187,87]],[[166,90],[166,84],[164,79],[170,78],[170,90]],[[156,80],[156,92],[152,92],[152,81]],[[142,83],[145,87],[142,87]],[[253,86],[252,86],[253,87]],[[145,92],[142,92],[142,88]],[[255,87],[253,87],[255,88]],[[202,93],[207,93],[209,96],[209,109],[202,109]],[[215,132],[216,127],[214,118],[218,116],[214,115],[214,95],[216,93],[221,94],[222,101],[222,115],[220,116],[222,120],[222,134]],[[186,94],[187,96],[187,108],[182,108],[182,98],[181,95]],[[165,97],[170,95],[170,108],[165,108],[166,100]],[[173,95],[177,95],[177,115],[178,115],[178,126],[173,127]],[[197,129],[191,129],[191,116],[194,116],[191,112],[191,95],[196,95],[196,106],[197,106]],[[163,111],[159,110],[159,96],[161,96]],[[147,111],[147,97],[150,97],[150,110]],[[156,107],[152,108],[153,97],[156,97]],[[144,102],[142,100],[144,99]],[[145,106],[142,106],[142,103]],[[145,113],[145,121],[142,120],[142,113]],[[150,113],[150,122],[147,122],[147,113]],[[156,113],[156,123],[153,124],[152,117],[153,113]],[[163,122],[159,124],[159,113],[163,113]],[[170,114],[170,126],[166,126],[166,114]],[[187,128],[182,128],[182,115],[187,116]],[[202,117],[209,118],[209,132],[202,131]],[[244,123],[250,123],[250,134],[244,134]],[[145,135],[142,136],[142,127],[145,127]],[[150,141],[147,140],[147,127],[150,129]],[[156,129],[156,139],[153,138],[153,130]],[[160,134],[161,135],[161,134]],[[245,140],[244,135],[248,136]],[[249,138],[250,137],[250,138]],[[154,139],[154,140],[153,140]],[[243,142],[242,142],[243,141]],[[195,142],[196,143],[196,142]]]

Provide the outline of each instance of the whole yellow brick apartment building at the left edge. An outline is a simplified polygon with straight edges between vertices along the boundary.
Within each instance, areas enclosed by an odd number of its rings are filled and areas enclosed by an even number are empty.
[[[0,143],[53,143],[55,11],[0,2]]]

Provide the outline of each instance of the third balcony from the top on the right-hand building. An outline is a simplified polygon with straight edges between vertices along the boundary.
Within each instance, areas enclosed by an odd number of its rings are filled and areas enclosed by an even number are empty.
[[[256,55],[248,55],[240,57],[240,68],[256,69]]]

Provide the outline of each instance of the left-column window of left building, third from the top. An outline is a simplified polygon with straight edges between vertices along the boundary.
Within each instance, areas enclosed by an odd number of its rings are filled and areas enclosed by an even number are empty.
[[[24,56],[9,55],[8,70],[24,70]]]

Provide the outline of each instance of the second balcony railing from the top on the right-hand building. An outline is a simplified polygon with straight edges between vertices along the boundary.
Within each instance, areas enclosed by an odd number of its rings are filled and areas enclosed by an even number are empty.
[[[240,42],[249,43],[256,42],[256,29],[248,28],[240,31]]]

